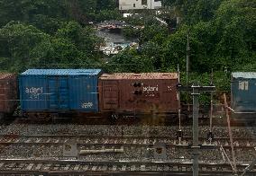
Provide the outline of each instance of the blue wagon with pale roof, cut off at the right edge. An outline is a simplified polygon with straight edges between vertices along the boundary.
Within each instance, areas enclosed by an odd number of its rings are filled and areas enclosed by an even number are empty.
[[[234,114],[253,118],[256,113],[256,72],[232,73],[231,98]]]

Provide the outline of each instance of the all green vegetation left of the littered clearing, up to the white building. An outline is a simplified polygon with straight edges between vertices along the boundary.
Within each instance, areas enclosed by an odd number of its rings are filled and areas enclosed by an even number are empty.
[[[89,22],[120,18],[114,0],[1,0],[0,70],[102,65]]]

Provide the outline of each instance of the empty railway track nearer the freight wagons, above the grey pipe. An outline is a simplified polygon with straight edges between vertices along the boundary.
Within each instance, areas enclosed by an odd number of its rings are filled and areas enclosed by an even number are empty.
[[[176,137],[166,136],[87,136],[87,135],[1,135],[0,145],[64,145],[66,143],[78,145],[154,145],[156,142],[167,146],[190,145],[192,138],[185,136],[179,143]],[[200,144],[210,145],[206,138],[199,138]],[[228,137],[216,137],[211,143],[215,146],[230,147]],[[253,138],[233,138],[234,147],[253,148],[256,141]]]

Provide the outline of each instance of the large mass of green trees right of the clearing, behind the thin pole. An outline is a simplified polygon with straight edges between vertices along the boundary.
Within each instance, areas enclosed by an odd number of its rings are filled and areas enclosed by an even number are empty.
[[[224,1],[210,22],[183,25],[163,45],[163,69],[186,66],[187,31],[190,31],[191,71],[237,70],[255,59],[255,19],[250,1]]]

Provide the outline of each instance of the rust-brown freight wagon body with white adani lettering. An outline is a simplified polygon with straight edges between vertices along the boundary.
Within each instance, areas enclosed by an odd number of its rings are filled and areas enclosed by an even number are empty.
[[[177,73],[112,74],[99,78],[100,110],[176,112]]]

